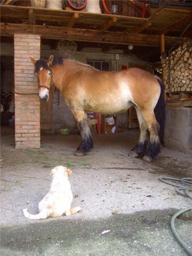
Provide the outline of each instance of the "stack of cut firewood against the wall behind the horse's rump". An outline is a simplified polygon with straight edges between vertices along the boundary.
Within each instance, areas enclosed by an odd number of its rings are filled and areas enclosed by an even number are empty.
[[[182,55],[183,54],[183,55]],[[182,55],[178,63],[178,58]],[[162,57],[163,80],[165,92],[169,92],[169,57]],[[171,79],[170,87],[172,93],[192,91],[192,45],[191,42],[184,43],[170,55]]]

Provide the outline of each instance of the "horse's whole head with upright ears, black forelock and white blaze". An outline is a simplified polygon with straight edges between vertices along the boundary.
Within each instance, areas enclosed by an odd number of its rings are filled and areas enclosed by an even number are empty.
[[[30,57],[31,62],[35,65],[35,75],[39,87],[39,98],[46,102],[49,100],[49,92],[52,84],[51,65],[53,58],[53,55],[50,55],[47,60],[34,60]]]

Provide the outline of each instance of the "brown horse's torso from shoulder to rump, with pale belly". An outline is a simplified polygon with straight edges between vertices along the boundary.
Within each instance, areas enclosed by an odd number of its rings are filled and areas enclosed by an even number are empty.
[[[81,105],[85,111],[107,114],[121,113],[133,104],[143,106],[160,93],[155,77],[139,68],[122,71],[86,68],[74,76],[73,86],[69,87],[74,90],[75,105]]]

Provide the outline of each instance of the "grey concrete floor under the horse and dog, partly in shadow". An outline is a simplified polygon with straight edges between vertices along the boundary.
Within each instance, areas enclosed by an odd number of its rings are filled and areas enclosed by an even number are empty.
[[[189,198],[175,193],[158,177],[192,177],[190,155],[162,147],[153,163],[128,156],[138,130],[100,135],[94,149],[74,156],[78,135],[42,135],[41,149],[15,150],[14,135],[2,129],[1,250],[5,255],[187,255],[175,241],[170,219],[189,207]],[[82,211],[47,220],[28,220],[49,191],[52,167],[66,165],[74,194],[73,206]],[[179,234],[192,250],[192,217],[176,221]],[[102,235],[102,231],[110,230]]]

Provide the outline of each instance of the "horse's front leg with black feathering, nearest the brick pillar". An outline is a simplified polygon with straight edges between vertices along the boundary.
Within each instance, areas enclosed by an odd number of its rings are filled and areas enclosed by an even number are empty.
[[[93,140],[89,124],[87,122],[87,115],[84,111],[72,111],[77,121],[78,129],[81,135],[81,144],[78,146],[75,155],[83,156],[93,148]]]

